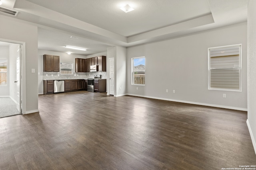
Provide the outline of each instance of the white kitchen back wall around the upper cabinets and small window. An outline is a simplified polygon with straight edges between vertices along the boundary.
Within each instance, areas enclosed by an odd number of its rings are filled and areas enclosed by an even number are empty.
[[[73,72],[75,72],[75,58],[86,59],[85,55],[76,55],[67,53],[60,53],[56,51],[47,51],[38,49],[38,94],[44,93],[44,84],[43,84],[43,55],[57,55],[60,56],[60,62],[74,63]]]

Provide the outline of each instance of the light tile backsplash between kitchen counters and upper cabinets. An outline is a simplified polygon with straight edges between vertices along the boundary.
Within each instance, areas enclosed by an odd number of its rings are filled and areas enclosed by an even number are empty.
[[[43,72],[43,80],[66,80],[94,78],[95,74],[100,74],[101,78],[106,79],[106,72],[74,72],[73,74],[60,74],[60,72]]]

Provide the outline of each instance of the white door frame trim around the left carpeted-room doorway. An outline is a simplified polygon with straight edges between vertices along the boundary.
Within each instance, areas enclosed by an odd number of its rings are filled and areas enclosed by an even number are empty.
[[[22,46],[22,56],[20,56],[20,72],[22,77],[20,77],[20,85],[21,85],[21,113],[24,115],[26,114],[26,43],[22,41],[15,41],[10,39],[2,39],[0,41],[5,43],[12,43],[12,44],[19,44]]]

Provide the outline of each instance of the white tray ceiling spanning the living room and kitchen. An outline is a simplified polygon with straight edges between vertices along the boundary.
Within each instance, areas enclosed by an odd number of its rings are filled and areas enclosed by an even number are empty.
[[[38,25],[38,49],[67,52],[133,46],[247,20],[248,0],[2,0],[18,18]],[[135,10],[125,13],[120,6]],[[2,14],[2,13],[0,13]],[[2,14],[8,16],[8,14]],[[71,38],[72,36],[72,38]]]

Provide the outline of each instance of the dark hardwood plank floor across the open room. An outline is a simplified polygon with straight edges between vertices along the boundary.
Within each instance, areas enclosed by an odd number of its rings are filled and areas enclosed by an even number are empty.
[[[256,165],[247,113],[106,93],[39,95],[0,119],[0,169],[221,170]]]

